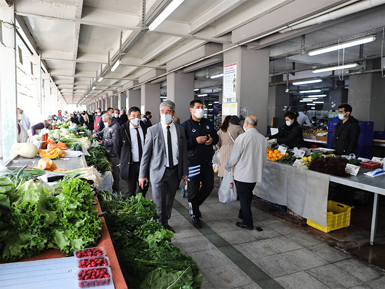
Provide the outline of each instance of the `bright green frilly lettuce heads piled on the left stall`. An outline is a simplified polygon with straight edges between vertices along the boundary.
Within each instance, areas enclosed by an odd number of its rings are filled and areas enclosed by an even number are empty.
[[[47,248],[70,254],[96,244],[101,221],[90,185],[65,178],[57,186],[62,192],[56,197],[36,180],[18,187],[5,216],[9,222],[0,248],[2,260],[32,258]]]

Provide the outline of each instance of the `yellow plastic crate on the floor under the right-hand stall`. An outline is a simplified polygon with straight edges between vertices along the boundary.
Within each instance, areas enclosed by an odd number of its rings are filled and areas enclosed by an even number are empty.
[[[327,226],[320,226],[317,223],[307,220],[307,224],[322,232],[328,233],[337,229],[349,227],[351,207],[328,200],[327,201]]]

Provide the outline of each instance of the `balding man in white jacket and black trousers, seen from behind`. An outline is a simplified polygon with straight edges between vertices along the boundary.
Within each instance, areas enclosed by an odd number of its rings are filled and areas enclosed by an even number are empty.
[[[258,119],[249,115],[243,125],[245,133],[239,135],[234,142],[230,157],[225,166],[226,171],[234,167],[234,181],[237,186],[241,208],[238,217],[242,222],[235,224],[243,229],[253,229],[251,201],[253,190],[262,181],[262,171],[266,163],[267,139],[255,128]]]

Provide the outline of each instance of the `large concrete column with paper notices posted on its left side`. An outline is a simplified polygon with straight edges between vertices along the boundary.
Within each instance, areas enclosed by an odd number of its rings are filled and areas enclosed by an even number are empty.
[[[239,47],[223,54],[224,65],[237,63],[238,116],[240,107],[248,107],[249,115],[258,118],[257,129],[264,135],[268,124],[269,54],[270,47],[256,51]]]

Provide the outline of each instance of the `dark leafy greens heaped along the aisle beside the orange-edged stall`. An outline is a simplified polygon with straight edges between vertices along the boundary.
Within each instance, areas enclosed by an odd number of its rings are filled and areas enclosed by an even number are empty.
[[[174,233],[156,221],[156,205],[141,193],[100,202],[128,288],[199,288],[202,275],[191,256],[170,244]]]

